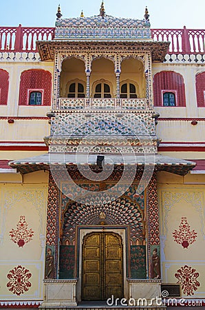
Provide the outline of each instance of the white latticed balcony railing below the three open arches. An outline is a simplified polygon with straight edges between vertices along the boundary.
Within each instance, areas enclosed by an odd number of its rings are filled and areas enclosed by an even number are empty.
[[[60,110],[146,110],[147,99],[120,99],[118,103],[116,98],[91,98],[89,101],[85,98],[60,98],[59,105]]]

